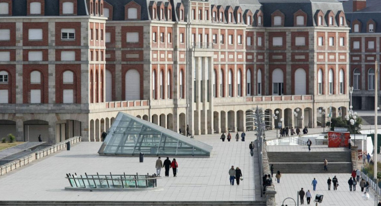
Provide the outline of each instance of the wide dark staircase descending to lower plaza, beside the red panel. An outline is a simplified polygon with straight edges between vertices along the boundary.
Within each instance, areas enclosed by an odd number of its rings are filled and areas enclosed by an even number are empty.
[[[350,173],[352,161],[349,150],[343,152],[267,152],[274,173]],[[328,171],[324,170],[328,160]]]

